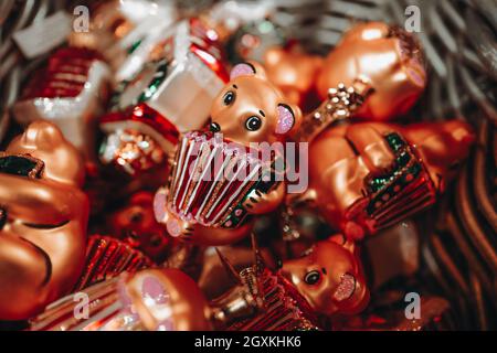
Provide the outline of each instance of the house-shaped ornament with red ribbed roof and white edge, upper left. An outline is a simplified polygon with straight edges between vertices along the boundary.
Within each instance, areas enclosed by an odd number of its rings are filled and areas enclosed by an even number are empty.
[[[52,121],[87,161],[94,161],[96,119],[105,107],[109,83],[110,72],[97,52],[60,49],[28,83],[13,115],[22,125]]]

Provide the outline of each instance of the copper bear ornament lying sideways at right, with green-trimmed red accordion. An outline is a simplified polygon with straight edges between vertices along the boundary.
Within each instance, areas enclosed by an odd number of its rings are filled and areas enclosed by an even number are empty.
[[[309,189],[290,204],[310,201],[331,226],[362,238],[433,204],[473,141],[457,120],[329,128],[310,143]]]

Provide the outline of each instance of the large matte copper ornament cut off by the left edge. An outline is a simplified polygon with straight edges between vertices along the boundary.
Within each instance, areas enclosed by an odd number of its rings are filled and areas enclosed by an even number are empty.
[[[0,152],[0,320],[22,320],[73,289],[84,264],[84,163],[57,127],[32,122]]]

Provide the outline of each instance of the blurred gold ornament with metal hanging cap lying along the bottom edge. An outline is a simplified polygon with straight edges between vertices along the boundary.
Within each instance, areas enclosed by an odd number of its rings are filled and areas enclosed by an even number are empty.
[[[75,315],[82,295],[89,301],[87,315]],[[193,279],[172,268],[125,272],[83,289],[78,296],[66,296],[49,306],[30,320],[30,330],[207,331],[251,314],[254,306],[243,284],[209,302]]]

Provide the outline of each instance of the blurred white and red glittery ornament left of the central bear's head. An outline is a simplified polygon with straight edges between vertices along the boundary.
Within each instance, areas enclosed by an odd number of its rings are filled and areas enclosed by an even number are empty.
[[[131,175],[161,165],[179,133],[202,128],[228,74],[222,54],[195,19],[161,44],[162,58],[118,85],[103,116],[101,161]]]

